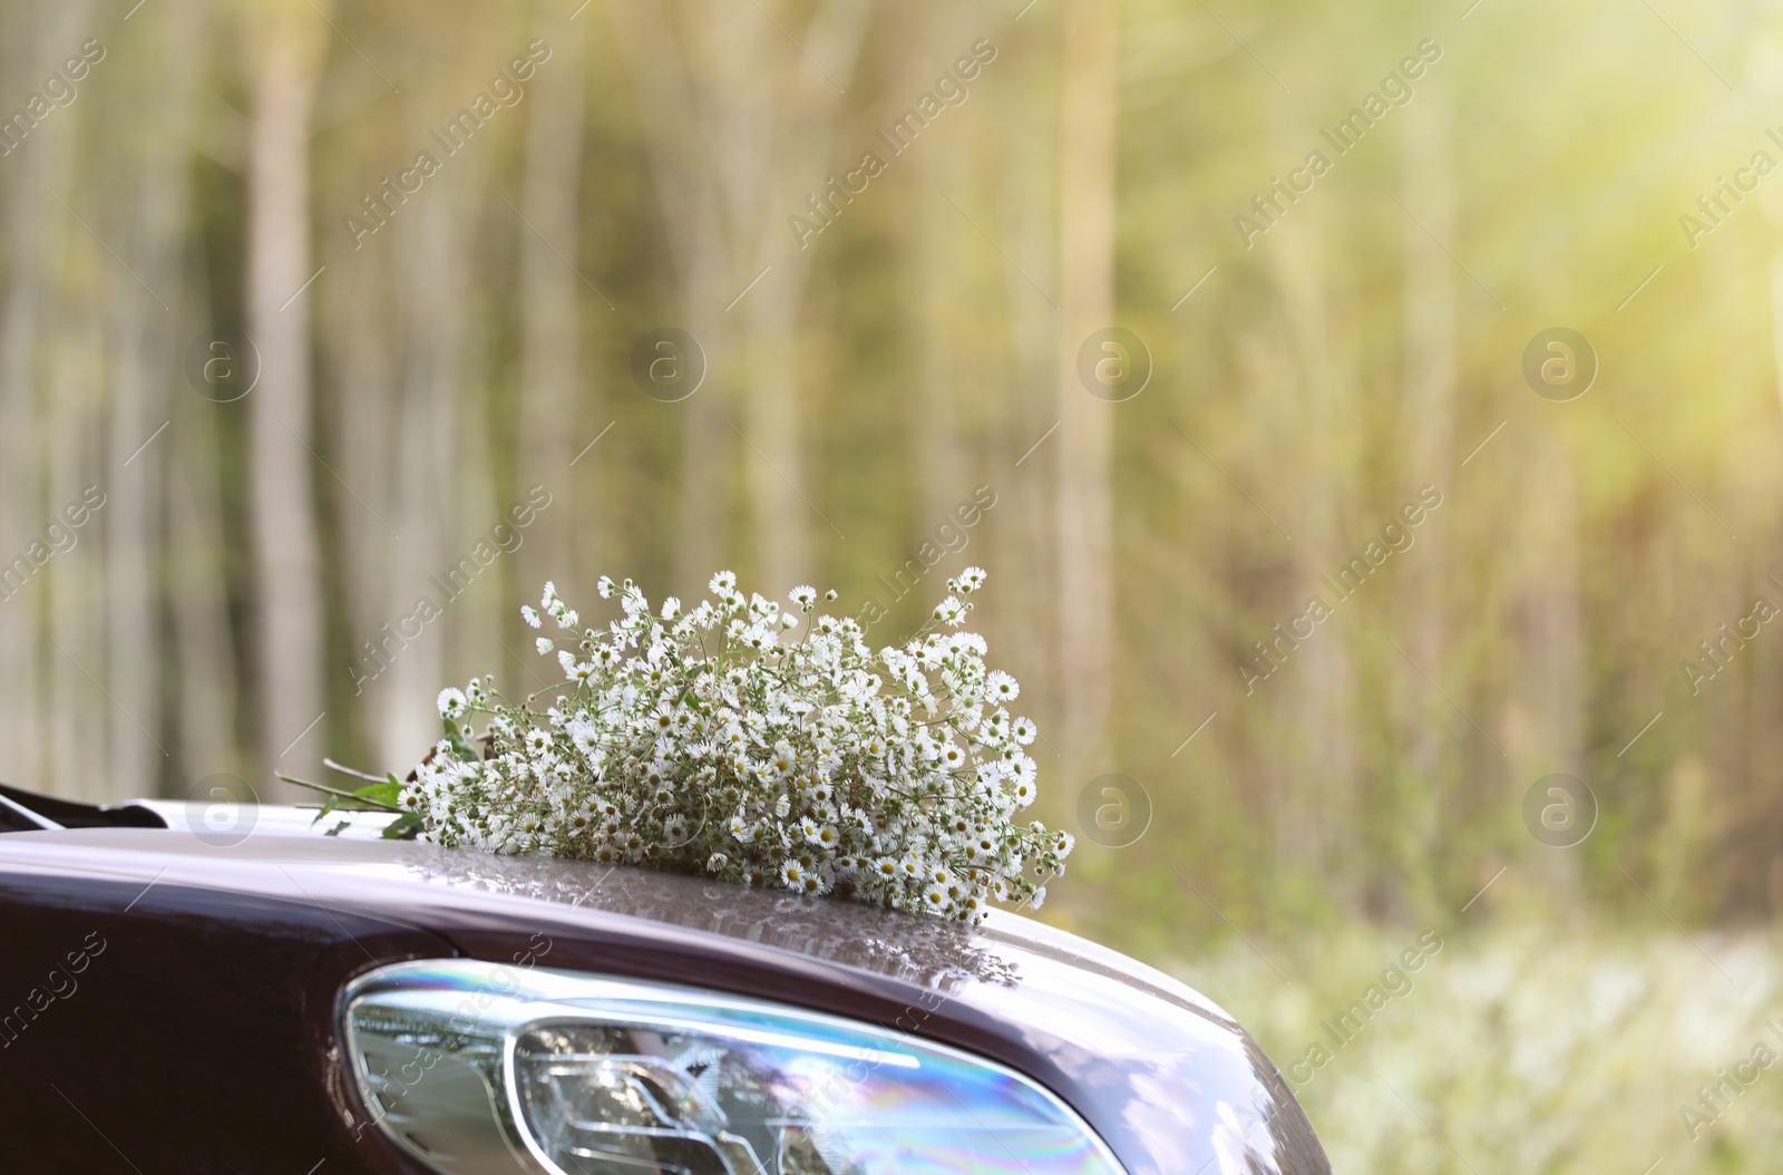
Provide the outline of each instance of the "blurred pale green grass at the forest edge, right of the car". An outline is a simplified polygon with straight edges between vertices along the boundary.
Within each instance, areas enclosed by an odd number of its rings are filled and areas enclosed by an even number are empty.
[[[1291,1073],[1337,1171],[1778,1170],[1774,933],[1489,925],[1444,933],[1417,972],[1384,977],[1423,933],[1366,925],[1294,947],[1232,943],[1170,970]],[[1323,1027],[1357,1000],[1366,1007],[1371,986],[1378,1007],[1366,1023],[1350,1013],[1360,1029]],[[1337,1043],[1344,1034],[1353,1039]],[[1305,1061],[1312,1045],[1328,1052],[1319,1068]],[[1722,1077],[1731,1093],[1705,1109],[1701,1088]]]

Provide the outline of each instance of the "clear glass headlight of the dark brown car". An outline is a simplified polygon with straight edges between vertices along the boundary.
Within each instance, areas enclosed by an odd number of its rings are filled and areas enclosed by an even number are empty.
[[[1022,1073],[760,1000],[451,959],[342,1020],[378,1129],[446,1175],[1122,1175]]]

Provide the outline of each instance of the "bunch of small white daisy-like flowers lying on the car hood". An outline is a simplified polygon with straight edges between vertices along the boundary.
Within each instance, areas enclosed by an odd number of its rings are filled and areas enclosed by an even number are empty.
[[[984,572],[949,579],[940,629],[874,653],[852,619],[783,610],[711,578],[692,610],[601,578],[620,617],[583,628],[546,585],[533,628],[563,681],[508,703],[489,678],[439,697],[446,738],[399,806],[442,845],[706,872],[981,922],[1039,906],[1070,833],[1016,824],[1038,735],[959,631]],[[826,599],[834,599],[829,592]],[[792,631],[804,624],[793,638]],[[481,729],[478,724],[481,720]]]

